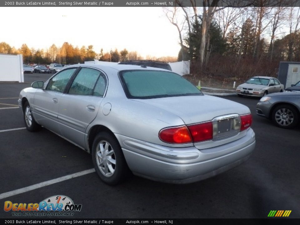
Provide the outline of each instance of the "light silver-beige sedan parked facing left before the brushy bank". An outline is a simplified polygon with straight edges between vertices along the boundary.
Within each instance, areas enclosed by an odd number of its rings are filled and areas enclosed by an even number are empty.
[[[236,92],[239,97],[243,95],[262,97],[267,94],[283,92],[284,85],[272,77],[252,77],[245,83],[237,86]]]

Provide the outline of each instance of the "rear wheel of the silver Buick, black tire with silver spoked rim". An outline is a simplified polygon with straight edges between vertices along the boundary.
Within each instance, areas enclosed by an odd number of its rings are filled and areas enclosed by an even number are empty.
[[[100,179],[108,185],[117,185],[130,174],[121,146],[110,133],[100,132],[95,137],[92,158]]]

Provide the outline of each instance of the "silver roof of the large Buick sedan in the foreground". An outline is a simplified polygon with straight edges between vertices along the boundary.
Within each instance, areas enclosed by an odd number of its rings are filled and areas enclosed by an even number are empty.
[[[93,67],[93,68],[98,68],[98,69],[103,69],[103,70],[113,68],[118,71],[121,71],[121,70],[161,70],[161,71],[172,72],[170,70],[156,68],[156,67],[144,67],[144,66],[136,66],[136,65],[117,64],[117,63],[112,63],[111,65],[89,64],[89,63],[75,64],[75,65],[68,66],[68,68],[78,67],[78,66]]]

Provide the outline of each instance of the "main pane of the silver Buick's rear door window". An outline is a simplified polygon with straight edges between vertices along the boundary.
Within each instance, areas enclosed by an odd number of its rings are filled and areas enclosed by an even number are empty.
[[[69,94],[93,95],[100,73],[100,71],[95,69],[82,68],[74,79]]]

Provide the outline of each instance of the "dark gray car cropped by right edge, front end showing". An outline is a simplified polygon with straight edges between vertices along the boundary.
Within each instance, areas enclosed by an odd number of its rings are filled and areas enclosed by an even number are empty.
[[[256,106],[259,116],[272,119],[281,128],[294,128],[300,117],[300,92],[275,93],[264,96]]]

